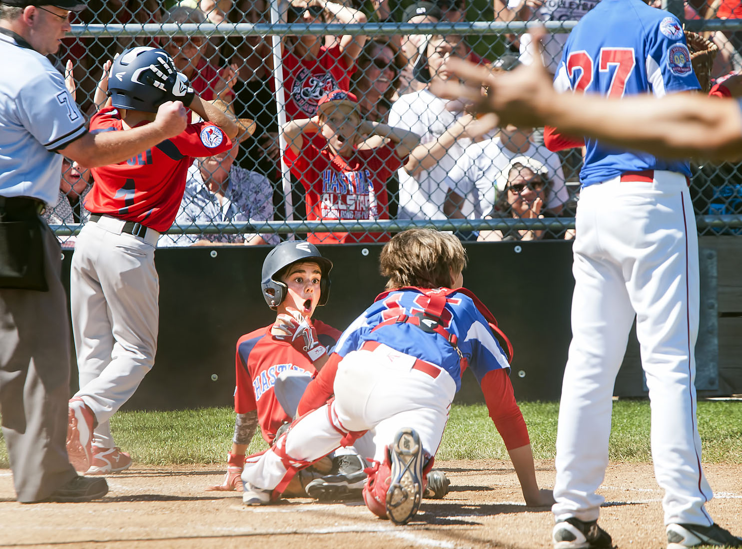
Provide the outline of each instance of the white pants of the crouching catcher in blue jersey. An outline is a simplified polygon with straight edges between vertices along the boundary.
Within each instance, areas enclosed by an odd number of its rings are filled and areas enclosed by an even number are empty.
[[[415,359],[386,345],[373,351],[348,353],[338,365],[335,400],[300,419],[278,444],[293,462],[313,462],[341,445],[349,431],[373,429],[373,444],[356,447],[361,456],[372,451],[373,459],[384,461],[387,445],[402,427],[413,427],[422,447],[435,456],[448,420],[456,383],[441,371],[437,378],[413,370]],[[242,473],[244,482],[272,490],[289,470],[272,448],[248,458]]]

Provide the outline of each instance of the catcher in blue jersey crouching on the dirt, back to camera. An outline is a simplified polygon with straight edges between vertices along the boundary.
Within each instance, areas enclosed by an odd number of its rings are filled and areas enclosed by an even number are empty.
[[[419,508],[467,367],[482,385],[526,504],[551,505],[551,490],[536,483],[508,357],[493,334],[496,320],[461,287],[465,265],[459,240],[436,230],[406,230],[384,245],[388,291],[344,331],[303,396],[304,415],[269,450],[246,460],[246,505],[271,502],[298,470],[373,430],[375,464],[367,469],[364,501],[376,515],[407,523]]]

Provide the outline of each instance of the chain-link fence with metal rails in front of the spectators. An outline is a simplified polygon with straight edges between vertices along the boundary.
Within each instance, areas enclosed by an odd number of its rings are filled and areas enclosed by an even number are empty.
[[[715,79],[742,67],[738,1],[673,6],[718,45]],[[439,69],[450,56],[500,70],[528,62],[524,21],[546,21],[554,71],[568,30],[595,4],[91,0],[56,63],[72,61],[76,101],[92,116],[105,101],[105,61],[162,47],[202,99],[241,119],[231,151],[194,159],[160,245],[384,242],[421,224],[470,240],[562,239],[573,233],[580,148],[552,153],[542,129],[496,127],[427,88],[447,78]],[[334,90],[352,95],[327,97]],[[700,233],[741,230],[740,165],[695,165]],[[47,216],[72,245],[92,177],[76,164],[63,172]]]

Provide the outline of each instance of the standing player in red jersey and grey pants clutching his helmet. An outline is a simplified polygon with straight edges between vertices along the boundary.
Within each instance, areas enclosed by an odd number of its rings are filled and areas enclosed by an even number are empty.
[[[180,100],[209,122],[119,164],[93,168],[85,199],[90,222],[79,234],[70,274],[72,327],[80,390],[69,405],[70,463],[88,473],[116,473],[131,458],[114,444],[108,419],[151,369],[157,348],[157,237],[168,230],[197,156],[232,148],[237,124],[194,95],[164,50],[135,47],[116,58],[108,80],[112,107],[91,119],[91,133],[125,133],[154,119],[157,106]]]

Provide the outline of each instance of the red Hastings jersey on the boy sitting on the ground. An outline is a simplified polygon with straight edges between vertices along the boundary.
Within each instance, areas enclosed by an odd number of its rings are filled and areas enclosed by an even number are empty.
[[[317,328],[320,342],[333,347],[340,331],[319,320],[312,321]],[[300,370],[314,376],[317,373],[312,362],[296,350],[289,342],[271,336],[271,325],[247,333],[237,341],[234,369],[237,379],[234,387],[234,411],[248,413],[257,410],[257,421],[263,439],[269,444],[283,422],[290,422],[283,407],[278,403],[273,386],[278,374],[286,370]]]

